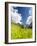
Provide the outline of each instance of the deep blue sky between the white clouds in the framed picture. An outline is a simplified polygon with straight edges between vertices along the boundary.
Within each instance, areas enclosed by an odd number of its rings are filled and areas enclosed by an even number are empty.
[[[32,15],[32,8],[31,7],[14,7],[14,9],[18,10],[18,13],[21,14],[23,24],[26,23],[28,16]]]

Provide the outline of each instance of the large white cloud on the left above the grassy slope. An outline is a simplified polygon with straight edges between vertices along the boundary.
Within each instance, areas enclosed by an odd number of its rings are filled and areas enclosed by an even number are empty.
[[[22,16],[18,13],[17,9],[12,8],[11,16],[13,22],[22,24]]]

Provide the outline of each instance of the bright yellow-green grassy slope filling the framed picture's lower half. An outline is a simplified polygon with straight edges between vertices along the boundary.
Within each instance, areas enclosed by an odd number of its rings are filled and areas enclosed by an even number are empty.
[[[29,39],[32,38],[31,28],[22,28],[19,25],[11,24],[11,39]]]

